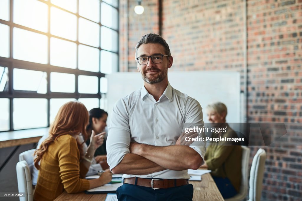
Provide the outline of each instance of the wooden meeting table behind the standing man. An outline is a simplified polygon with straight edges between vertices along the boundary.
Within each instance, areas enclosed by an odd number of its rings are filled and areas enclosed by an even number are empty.
[[[222,195],[220,194],[212,176],[210,173],[204,174],[201,176],[201,181],[191,181],[191,183],[194,186],[194,194],[193,194],[193,200],[194,201],[224,201]],[[85,194],[85,193],[74,193],[74,194],[68,194],[66,191],[64,191],[59,197],[55,199],[55,201],[58,200],[82,200],[82,201],[99,201],[99,200],[105,200],[107,194]]]

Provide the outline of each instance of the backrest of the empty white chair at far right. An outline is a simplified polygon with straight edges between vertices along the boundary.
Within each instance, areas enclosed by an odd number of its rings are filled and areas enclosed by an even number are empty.
[[[266,153],[260,148],[253,158],[249,178],[249,200],[260,201]]]

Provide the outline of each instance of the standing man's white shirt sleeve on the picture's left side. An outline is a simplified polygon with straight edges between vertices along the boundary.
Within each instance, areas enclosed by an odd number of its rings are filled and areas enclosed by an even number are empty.
[[[129,110],[125,99],[120,99],[113,107],[106,141],[107,162],[112,170],[129,151],[130,127]]]

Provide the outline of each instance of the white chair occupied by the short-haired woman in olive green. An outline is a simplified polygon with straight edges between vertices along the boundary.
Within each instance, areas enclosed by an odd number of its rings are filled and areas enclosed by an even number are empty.
[[[241,186],[239,193],[234,197],[225,199],[227,201],[242,201],[246,195],[248,186],[248,178],[249,178],[249,154],[251,152],[250,148],[246,146],[242,147],[242,159],[241,159]]]

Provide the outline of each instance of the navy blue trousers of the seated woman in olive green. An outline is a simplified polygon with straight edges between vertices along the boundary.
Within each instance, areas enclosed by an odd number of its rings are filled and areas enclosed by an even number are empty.
[[[233,197],[237,194],[236,189],[227,177],[212,177],[224,199]]]

